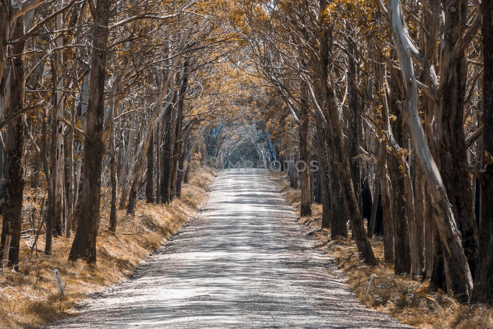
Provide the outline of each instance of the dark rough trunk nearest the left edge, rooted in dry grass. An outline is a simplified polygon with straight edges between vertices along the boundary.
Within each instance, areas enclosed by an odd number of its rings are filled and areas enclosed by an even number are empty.
[[[18,39],[24,35],[24,17],[16,20],[12,39]],[[8,116],[12,117],[19,110],[24,109],[24,86],[26,73],[22,54],[25,41],[19,41],[12,45],[12,74],[10,77],[10,101]],[[21,237],[22,201],[24,192],[24,173],[22,169],[22,147],[24,145],[24,117],[20,116],[8,124],[6,138],[5,161],[5,199],[3,208],[3,224],[0,241],[0,251],[3,253],[7,235],[11,237],[8,253],[8,265],[18,270],[19,243]],[[9,230],[10,228],[10,230]],[[1,254],[0,254],[1,255]]]

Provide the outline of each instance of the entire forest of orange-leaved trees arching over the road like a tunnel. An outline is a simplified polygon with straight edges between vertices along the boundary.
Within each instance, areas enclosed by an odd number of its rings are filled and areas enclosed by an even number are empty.
[[[105,204],[114,231],[117,208],[179,198],[187,164],[277,160],[301,216],[321,202],[323,228],[365,262],[383,233],[395,274],[491,303],[492,10],[0,1],[0,256],[17,268],[21,228],[42,214],[47,255],[75,230],[70,259],[95,262]]]

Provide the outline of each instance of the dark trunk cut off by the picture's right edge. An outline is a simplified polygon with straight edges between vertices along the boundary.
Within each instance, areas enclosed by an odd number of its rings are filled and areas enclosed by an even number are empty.
[[[481,177],[479,262],[471,302],[493,304],[493,2],[483,0],[483,143],[487,166]]]

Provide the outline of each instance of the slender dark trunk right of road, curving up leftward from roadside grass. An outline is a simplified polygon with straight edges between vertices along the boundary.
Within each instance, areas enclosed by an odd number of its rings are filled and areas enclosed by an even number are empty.
[[[326,0],[320,1],[320,10],[323,12],[327,6]],[[320,17],[323,17],[320,14]],[[322,84],[322,93],[324,96],[327,125],[326,139],[329,145],[330,153],[334,157],[332,162],[338,173],[338,178],[341,183],[341,190],[344,198],[344,205],[352,222],[352,234],[358,248],[358,252],[368,264],[377,265],[378,261],[370,245],[370,241],[366,236],[366,231],[363,223],[363,218],[358,209],[356,194],[352,184],[350,171],[349,154],[346,143],[343,140],[341,130],[341,120],[339,110],[335,101],[335,90],[332,85],[332,75],[329,73],[329,47],[331,44],[331,30],[324,29],[320,34],[320,81]]]

